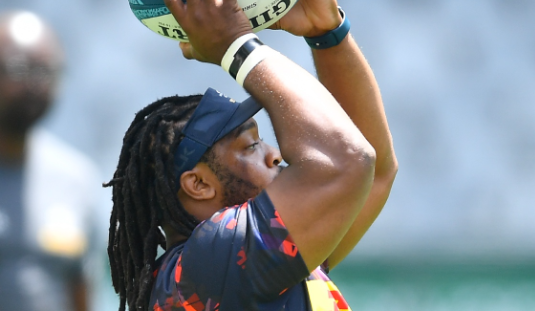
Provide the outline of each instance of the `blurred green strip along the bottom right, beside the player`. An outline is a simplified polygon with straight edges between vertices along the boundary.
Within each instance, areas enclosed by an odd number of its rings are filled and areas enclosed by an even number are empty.
[[[354,311],[535,311],[535,262],[342,263],[331,277]]]

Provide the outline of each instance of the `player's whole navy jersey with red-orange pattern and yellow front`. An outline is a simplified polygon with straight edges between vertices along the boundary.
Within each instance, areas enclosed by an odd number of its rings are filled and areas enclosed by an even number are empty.
[[[308,272],[265,192],[202,222],[157,266],[155,311],[351,310],[322,267]]]

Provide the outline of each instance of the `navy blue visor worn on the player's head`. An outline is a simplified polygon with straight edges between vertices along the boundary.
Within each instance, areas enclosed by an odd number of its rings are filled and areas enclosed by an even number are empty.
[[[215,142],[254,116],[262,107],[249,97],[242,103],[209,88],[204,93],[182,133],[184,138],[175,151],[175,182],[197,165]]]

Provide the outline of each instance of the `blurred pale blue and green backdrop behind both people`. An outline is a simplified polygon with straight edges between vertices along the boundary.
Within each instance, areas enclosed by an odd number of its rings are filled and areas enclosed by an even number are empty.
[[[535,310],[535,1],[339,3],[381,86],[400,170],[334,281],[353,310]],[[89,155],[103,182],[148,103],[209,86],[246,97],[219,67],[183,59],[127,0],[0,1],[15,8],[41,15],[66,46],[58,103],[42,125]],[[304,40],[259,36],[313,72]],[[274,144],[267,117],[258,120]],[[92,299],[95,310],[116,310],[111,192],[101,195]]]

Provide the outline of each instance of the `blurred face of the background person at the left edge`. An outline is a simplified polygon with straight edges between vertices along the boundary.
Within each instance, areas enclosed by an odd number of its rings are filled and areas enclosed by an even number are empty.
[[[0,127],[21,134],[51,105],[63,58],[48,32],[20,43],[6,29],[0,31]]]

